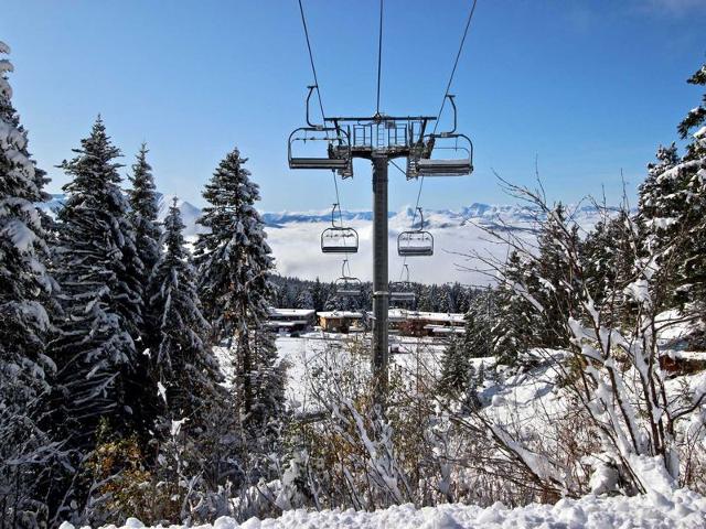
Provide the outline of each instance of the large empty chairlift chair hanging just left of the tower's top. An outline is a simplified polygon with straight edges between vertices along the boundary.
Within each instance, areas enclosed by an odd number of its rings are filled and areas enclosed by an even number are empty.
[[[309,99],[315,89],[309,87],[307,96],[307,125],[289,134],[288,158],[290,169],[327,169],[343,177],[353,175],[351,141],[340,127],[314,125],[309,118]],[[322,147],[324,150],[322,152]],[[325,155],[323,155],[325,154]]]

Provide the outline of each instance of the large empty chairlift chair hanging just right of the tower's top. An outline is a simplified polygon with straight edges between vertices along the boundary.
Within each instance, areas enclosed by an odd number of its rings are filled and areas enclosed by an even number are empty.
[[[457,109],[452,95],[447,95],[453,108],[453,128],[448,132],[425,136],[426,155],[407,161],[407,177],[466,176],[473,172],[473,143],[456,132]]]

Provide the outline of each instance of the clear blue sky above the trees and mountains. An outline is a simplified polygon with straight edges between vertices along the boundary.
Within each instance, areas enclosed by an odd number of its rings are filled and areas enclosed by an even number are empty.
[[[382,109],[436,114],[470,0],[386,0]],[[329,115],[372,114],[377,1],[304,0]],[[504,203],[492,169],[532,183],[538,155],[553,199],[619,194],[696,106],[685,84],[706,57],[703,0],[479,0],[452,93],[474,140],[475,173],[427,181],[422,205]],[[296,0],[3,2],[14,105],[54,179],[95,116],[132,162],[142,140],[158,186],[202,204],[234,145],[249,156],[267,210],[324,208],[328,172],[289,171],[286,139],[303,125],[311,73]],[[356,162],[357,163],[357,162]],[[370,168],[341,186],[370,208]],[[393,170],[394,171],[394,170]],[[394,174],[391,207],[417,186]],[[617,198],[616,198],[617,199]]]

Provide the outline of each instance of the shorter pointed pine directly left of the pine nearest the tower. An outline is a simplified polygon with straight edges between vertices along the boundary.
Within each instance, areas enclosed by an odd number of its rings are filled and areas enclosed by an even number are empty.
[[[222,376],[206,344],[208,323],[201,314],[195,271],[184,248],[176,199],[164,219],[164,255],[151,276],[150,312],[159,315],[153,328],[156,377],[165,391],[172,419],[190,418],[218,395]],[[161,388],[160,388],[161,390]]]

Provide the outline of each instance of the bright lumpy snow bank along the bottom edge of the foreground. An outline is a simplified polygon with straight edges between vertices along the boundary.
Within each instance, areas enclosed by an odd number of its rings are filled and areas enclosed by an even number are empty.
[[[131,518],[124,527],[143,526]],[[185,526],[171,527],[176,529]],[[578,500],[561,499],[556,505],[532,504],[515,509],[495,504],[484,509],[462,505],[417,509],[411,505],[402,505],[375,512],[289,510],[276,519],[260,521],[252,518],[238,525],[232,518],[222,517],[213,525],[199,527],[203,529],[704,528],[706,527],[706,498],[682,489],[668,496],[659,494],[631,498],[586,496]],[[74,527],[63,523],[60,529],[74,529]]]

